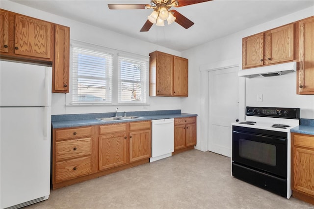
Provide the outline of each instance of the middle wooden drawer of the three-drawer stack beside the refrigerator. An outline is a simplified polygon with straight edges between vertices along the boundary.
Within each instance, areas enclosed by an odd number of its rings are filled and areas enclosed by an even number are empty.
[[[58,141],[55,143],[55,160],[91,155],[91,138]]]

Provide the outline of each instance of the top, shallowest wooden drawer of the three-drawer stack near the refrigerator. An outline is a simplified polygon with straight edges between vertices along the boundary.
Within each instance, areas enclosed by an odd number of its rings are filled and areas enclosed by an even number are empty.
[[[84,137],[84,136],[91,136],[92,132],[93,132],[92,127],[57,130],[55,131],[55,140],[57,141],[61,139],[71,139],[71,138],[78,138],[78,137]]]

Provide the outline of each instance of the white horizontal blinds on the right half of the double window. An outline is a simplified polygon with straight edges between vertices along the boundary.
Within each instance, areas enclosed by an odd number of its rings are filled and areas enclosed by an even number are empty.
[[[146,103],[148,64],[148,57],[129,53],[118,54],[119,103]]]

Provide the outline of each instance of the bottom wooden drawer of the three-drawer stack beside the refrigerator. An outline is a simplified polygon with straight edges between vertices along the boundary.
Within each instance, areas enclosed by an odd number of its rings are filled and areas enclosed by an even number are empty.
[[[91,157],[81,157],[55,163],[55,181],[73,179],[92,172]]]

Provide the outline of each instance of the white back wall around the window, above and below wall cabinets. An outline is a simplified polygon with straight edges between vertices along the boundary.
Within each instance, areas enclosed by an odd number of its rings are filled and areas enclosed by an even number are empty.
[[[125,52],[147,55],[153,51],[161,51],[180,56],[181,53],[168,48],[157,46],[148,42],[134,39],[123,34],[118,34],[95,26],[79,23],[67,18],[53,15],[44,11],[33,9],[12,1],[1,0],[1,8],[12,12],[24,14],[52,23],[69,26],[70,39],[92,43]],[[71,77],[70,77],[71,79]],[[150,105],[119,106],[119,111],[146,111],[146,110],[168,110],[181,109],[180,98],[150,97]],[[52,94],[52,114],[78,114],[114,112],[115,106],[70,106],[65,103],[65,94]]]

